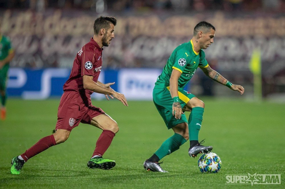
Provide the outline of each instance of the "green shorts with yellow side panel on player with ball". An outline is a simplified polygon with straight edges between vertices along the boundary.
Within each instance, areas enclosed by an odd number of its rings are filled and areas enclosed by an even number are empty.
[[[180,89],[178,89],[178,95],[182,108],[191,98],[195,97],[195,95],[192,95],[191,93]],[[156,109],[158,110],[160,116],[163,118],[168,129],[171,129],[179,123],[188,123],[185,114],[182,114],[180,119],[176,119],[172,115],[173,100],[170,95],[169,87],[161,89],[154,88],[152,91],[152,98]]]

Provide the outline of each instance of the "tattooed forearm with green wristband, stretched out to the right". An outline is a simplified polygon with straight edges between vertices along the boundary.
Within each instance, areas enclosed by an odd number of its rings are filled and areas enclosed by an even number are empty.
[[[207,68],[201,68],[203,70],[203,72],[210,77],[211,79],[213,79],[214,81],[217,81],[218,83],[221,83],[223,85],[226,85],[227,87],[229,87],[230,89],[232,89],[233,91],[239,91],[239,93],[241,93],[241,95],[243,95],[243,93],[245,92],[245,89],[243,88],[243,86],[241,85],[233,85],[231,84],[231,82],[229,82],[227,79],[225,79],[222,75],[220,75],[218,72],[216,72],[215,70],[213,70],[210,66],[208,66]]]

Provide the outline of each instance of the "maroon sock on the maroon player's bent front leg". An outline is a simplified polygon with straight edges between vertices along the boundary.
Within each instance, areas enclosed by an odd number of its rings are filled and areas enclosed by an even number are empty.
[[[103,130],[96,142],[96,148],[94,150],[93,156],[103,156],[103,154],[109,148],[114,137],[115,133],[113,131]]]

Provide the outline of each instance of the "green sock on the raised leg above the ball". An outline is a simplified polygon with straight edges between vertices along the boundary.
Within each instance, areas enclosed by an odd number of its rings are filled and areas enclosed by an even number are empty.
[[[189,140],[198,140],[199,131],[203,120],[204,108],[192,108],[188,119]]]

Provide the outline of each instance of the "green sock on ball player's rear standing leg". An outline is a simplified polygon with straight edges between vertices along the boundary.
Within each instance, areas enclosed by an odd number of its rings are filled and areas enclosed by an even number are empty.
[[[167,138],[160,146],[160,148],[154,153],[159,159],[171,154],[179,149],[187,140],[177,133],[174,133],[171,137]]]

